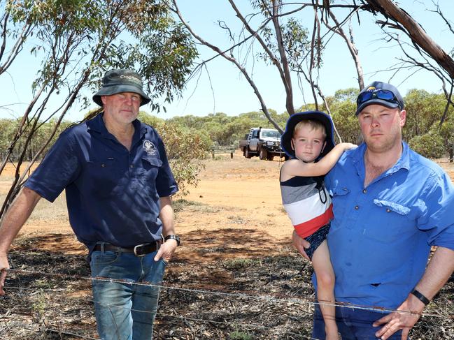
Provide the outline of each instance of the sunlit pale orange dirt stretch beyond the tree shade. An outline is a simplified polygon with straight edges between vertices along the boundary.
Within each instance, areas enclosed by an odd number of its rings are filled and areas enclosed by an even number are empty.
[[[454,181],[454,163],[448,163],[447,159],[438,163]],[[278,184],[281,161],[277,157],[271,162],[260,161],[257,157],[246,159],[238,150],[233,159],[229,154],[218,155],[205,164],[198,186],[190,188],[190,194],[184,197],[190,201],[190,207],[182,211],[176,207],[176,229],[183,241],[176,256],[186,256],[194,246],[192,243],[197,243],[200,237],[216,237],[225,245],[239,247],[246,239],[252,241],[253,236],[260,235],[260,243],[246,242],[245,256],[263,248],[271,252],[288,250],[292,226],[281,205]],[[6,168],[1,175],[0,198],[6,194],[12,175],[12,167]],[[175,200],[179,198],[178,195],[174,197]],[[54,204],[41,200],[20,233],[22,236],[46,234],[45,242],[37,245],[43,250],[85,253],[85,247],[72,237],[64,195],[60,195]],[[61,236],[52,234],[67,237],[63,242]]]

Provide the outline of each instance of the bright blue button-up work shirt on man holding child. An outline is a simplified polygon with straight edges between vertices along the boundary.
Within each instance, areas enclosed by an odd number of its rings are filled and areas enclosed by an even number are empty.
[[[364,144],[325,177],[336,300],[395,309],[425,272],[430,246],[454,250],[454,187],[403,143],[399,161],[364,188]]]

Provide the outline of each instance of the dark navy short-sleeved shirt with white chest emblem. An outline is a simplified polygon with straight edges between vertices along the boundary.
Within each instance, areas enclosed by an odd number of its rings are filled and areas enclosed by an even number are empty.
[[[64,131],[25,186],[50,202],[66,189],[69,222],[90,251],[97,242],[129,247],[160,239],[159,197],[178,191],[164,144],[135,120],[128,151],[102,116]]]

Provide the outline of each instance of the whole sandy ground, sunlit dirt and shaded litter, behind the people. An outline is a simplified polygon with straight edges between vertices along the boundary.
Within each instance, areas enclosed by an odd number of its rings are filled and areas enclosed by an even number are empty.
[[[454,164],[439,163],[453,178]],[[206,160],[199,188],[176,201],[183,243],[164,277],[154,339],[310,337],[312,267],[290,246],[291,226],[276,203],[280,166],[277,158],[248,160],[238,152],[233,160]],[[11,179],[1,176],[0,194]],[[232,188],[244,193],[222,197]],[[64,195],[53,205],[39,202],[10,263],[39,274],[8,275],[0,339],[97,339],[90,280],[83,279],[90,268],[69,228]],[[439,317],[423,317],[412,339],[454,339],[453,301],[451,276],[425,310]]]

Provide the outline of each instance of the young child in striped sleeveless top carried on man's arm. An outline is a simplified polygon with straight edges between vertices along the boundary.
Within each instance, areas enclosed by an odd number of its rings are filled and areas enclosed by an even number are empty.
[[[334,146],[334,126],[324,112],[292,114],[281,137],[281,147],[290,159],[281,168],[282,201],[294,232],[311,246],[311,258],[317,277],[317,297],[325,320],[326,339],[339,340],[334,307],[334,271],[329,260],[326,237],[332,219],[332,202],[323,184],[323,176],[339,160],[343,151],[356,147],[350,143]],[[327,303],[327,304],[324,304]]]

